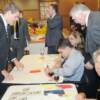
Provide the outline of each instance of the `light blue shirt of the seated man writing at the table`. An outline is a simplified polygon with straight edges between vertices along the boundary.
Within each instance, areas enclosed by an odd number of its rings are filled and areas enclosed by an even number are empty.
[[[62,67],[54,71],[55,75],[64,77],[65,81],[80,81],[83,72],[84,57],[81,52],[76,49],[72,49]]]

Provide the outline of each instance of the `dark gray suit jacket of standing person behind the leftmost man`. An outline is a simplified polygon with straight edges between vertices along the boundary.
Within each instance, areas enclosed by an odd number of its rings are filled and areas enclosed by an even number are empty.
[[[11,39],[11,46],[13,47],[19,47],[19,48],[25,48],[27,46],[27,41],[30,40],[29,32],[28,32],[28,24],[27,21],[23,18],[19,19],[19,26],[17,29],[17,34],[19,34],[19,39],[15,40],[12,36]]]

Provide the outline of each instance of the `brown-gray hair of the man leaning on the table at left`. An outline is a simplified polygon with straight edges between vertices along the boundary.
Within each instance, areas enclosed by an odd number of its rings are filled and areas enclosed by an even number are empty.
[[[19,7],[15,5],[14,3],[7,4],[3,9],[3,14],[6,12],[11,11],[12,13],[15,13],[17,11],[20,11]]]

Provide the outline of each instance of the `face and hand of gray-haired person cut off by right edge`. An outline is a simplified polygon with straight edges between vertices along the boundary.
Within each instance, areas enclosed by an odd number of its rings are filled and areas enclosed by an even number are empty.
[[[94,54],[93,54],[93,60],[94,60],[94,64],[95,64],[95,70],[98,74],[98,76],[100,77],[100,48],[97,49]],[[100,78],[97,81],[98,83],[98,88],[100,88]],[[100,89],[97,89],[97,97],[96,99],[87,99],[84,96],[84,93],[80,93],[77,95],[77,100],[100,100]]]

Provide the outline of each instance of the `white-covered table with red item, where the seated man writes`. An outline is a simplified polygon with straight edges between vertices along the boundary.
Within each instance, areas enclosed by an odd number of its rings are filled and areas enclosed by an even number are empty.
[[[58,55],[26,55],[21,59],[21,63],[24,65],[23,70],[17,70],[15,67],[11,74],[14,80],[4,80],[3,83],[14,84],[31,84],[31,83],[55,83],[54,80],[50,80],[48,75],[44,72],[46,66],[52,67],[55,59]],[[60,79],[58,82],[61,82]]]

